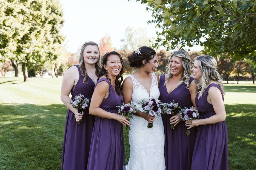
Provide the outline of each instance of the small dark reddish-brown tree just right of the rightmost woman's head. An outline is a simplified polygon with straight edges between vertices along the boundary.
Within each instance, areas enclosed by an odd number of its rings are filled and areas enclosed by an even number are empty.
[[[221,58],[218,62],[218,71],[225,75],[227,84],[229,84],[229,76],[234,70],[234,64],[230,58]]]

